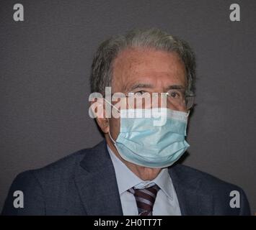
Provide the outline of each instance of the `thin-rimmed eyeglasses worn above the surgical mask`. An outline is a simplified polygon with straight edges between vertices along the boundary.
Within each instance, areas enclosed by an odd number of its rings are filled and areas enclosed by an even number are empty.
[[[190,110],[195,101],[195,95],[193,93],[187,93],[185,89],[178,88],[178,89],[171,89],[167,91],[167,93],[152,93],[148,91],[135,91],[129,92],[126,94],[123,93],[114,93],[115,97],[118,98],[131,98],[136,100],[146,101],[147,98],[150,98],[150,103],[154,100],[154,98],[158,99],[160,94],[160,98],[166,98],[167,106],[175,106],[177,108],[185,108],[186,110]]]

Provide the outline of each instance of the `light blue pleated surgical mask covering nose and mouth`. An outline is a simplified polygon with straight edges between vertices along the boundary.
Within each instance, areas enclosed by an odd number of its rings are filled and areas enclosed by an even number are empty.
[[[121,109],[120,133],[116,140],[110,138],[128,162],[168,167],[190,146],[185,141],[188,115],[167,108]]]

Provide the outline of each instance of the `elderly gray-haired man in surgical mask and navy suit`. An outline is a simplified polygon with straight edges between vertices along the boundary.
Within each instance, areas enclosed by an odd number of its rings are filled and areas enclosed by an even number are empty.
[[[18,175],[2,213],[250,215],[241,188],[175,163],[189,147],[185,136],[194,83],[195,56],[177,37],[137,29],[102,42],[91,75],[92,92],[102,100],[91,100],[91,114],[105,140]],[[114,95],[122,96],[115,100]],[[15,190],[24,193],[23,208],[14,207]]]

